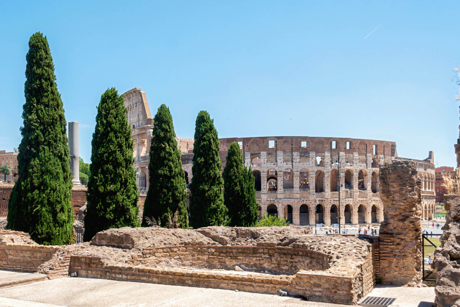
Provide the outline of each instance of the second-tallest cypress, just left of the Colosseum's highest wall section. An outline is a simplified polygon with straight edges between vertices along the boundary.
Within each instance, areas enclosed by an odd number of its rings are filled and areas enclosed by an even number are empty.
[[[109,228],[140,226],[131,129],[123,95],[113,87],[101,96],[91,145],[85,241]]]

